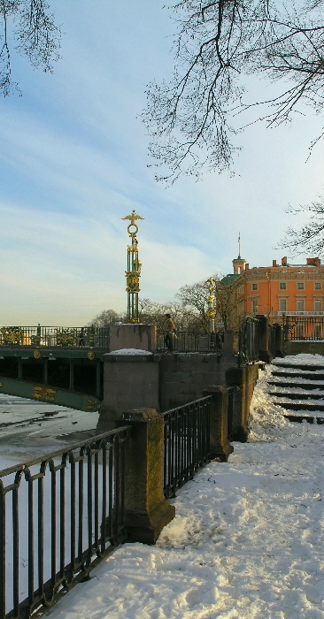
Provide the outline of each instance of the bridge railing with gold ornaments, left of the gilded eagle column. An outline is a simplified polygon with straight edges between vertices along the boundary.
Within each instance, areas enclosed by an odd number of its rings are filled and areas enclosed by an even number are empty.
[[[3,326],[0,346],[109,349],[109,327]]]

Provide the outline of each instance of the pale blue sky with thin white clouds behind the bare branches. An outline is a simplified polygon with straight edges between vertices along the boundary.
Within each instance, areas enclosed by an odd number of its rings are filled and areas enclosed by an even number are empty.
[[[172,72],[174,25],[164,0],[50,0],[62,25],[53,74],[12,53],[22,96],[0,99],[0,286],[2,325],[83,325],[127,305],[127,222],[143,218],[141,296],[174,300],[184,284],[285,255],[274,247],[289,204],[323,192],[320,118],[249,127],[236,174],[158,184],[139,118],[150,80]],[[251,80],[252,91],[266,85]],[[297,262],[304,259],[300,256]],[[296,261],[296,260],[295,260]]]

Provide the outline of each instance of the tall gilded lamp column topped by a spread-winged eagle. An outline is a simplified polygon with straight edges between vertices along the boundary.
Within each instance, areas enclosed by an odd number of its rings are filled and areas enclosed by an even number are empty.
[[[140,292],[142,262],[138,258],[138,241],[136,239],[138,225],[135,224],[135,221],[143,219],[143,217],[136,215],[135,210],[132,210],[131,215],[127,215],[122,219],[130,219],[127,233],[132,240],[132,244],[127,246],[127,271],[125,271],[127,282],[127,321],[128,323],[138,323],[138,293]]]

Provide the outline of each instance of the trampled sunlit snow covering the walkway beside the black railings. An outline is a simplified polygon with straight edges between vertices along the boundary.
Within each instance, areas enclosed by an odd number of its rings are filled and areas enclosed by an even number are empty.
[[[285,419],[269,371],[249,442],[181,489],[156,546],[120,546],[50,619],[324,618],[324,425]]]

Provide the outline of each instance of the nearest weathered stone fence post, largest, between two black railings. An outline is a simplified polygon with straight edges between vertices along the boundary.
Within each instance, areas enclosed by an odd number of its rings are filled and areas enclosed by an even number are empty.
[[[124,413],[117,426],[132,425],[125,462],[125,525],[132,542],[155,544],[173,520],[174,506],[163,493],[164,421],[156,409]]]

